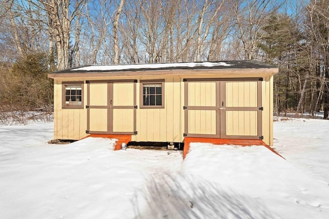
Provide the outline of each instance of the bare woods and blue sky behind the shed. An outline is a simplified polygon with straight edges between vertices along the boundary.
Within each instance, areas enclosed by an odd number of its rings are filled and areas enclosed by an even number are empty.
[[[257,59],[279,67],[275,113],[328,118],[327,0],[1,1],[2,111],[51,110],[49,71]]]

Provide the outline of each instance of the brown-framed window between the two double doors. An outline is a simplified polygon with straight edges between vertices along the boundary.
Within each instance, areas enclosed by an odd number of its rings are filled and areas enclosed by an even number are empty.
[[[140,108],[162,108],[164,102],[165,81],[141,81],[140,82]]]

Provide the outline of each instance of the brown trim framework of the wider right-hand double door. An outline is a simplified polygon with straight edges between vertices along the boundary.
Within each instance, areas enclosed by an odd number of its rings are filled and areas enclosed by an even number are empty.
[[[226,107],[226,82],[255,82],[257,81],[257,107]],[[184,78],[184,120],[187,137],[209,137],[209,138],[231,138],[231,139],[263,139],[262,136],[262,77],[244,78]],[[188,106],[188,83],[189,82],[216,82],[216,106],[215,107],[193,107]],[[221,103],[223,106],[221,106]],[[190,134],[189,110],[216,110],[216,134]],[[226,111],[257,111],[257,135],[227,135],[226,134]]]

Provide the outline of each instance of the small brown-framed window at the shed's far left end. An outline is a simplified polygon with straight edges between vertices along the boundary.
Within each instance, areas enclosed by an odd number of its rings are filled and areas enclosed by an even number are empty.
[[[65,82],[62,86],[62,107],[83,108],[83,82]]]

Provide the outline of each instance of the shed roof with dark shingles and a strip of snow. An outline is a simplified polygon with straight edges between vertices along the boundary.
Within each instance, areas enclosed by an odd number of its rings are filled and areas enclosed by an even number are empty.
[[[60,77],[60,75],[76,76],[77,74],[97,73],[124,73],[171,71],[171,70],[228,70],[228,69],[278,69],[276,66],[268,65],[254,60],[244,61],[218,61],[218,62],[191,62],[191,63],[152,63],[152,64],[131,64],[131,65],[86,65],[48,74],[48,77]],[[111,74],[112,75],[112,74]]]

